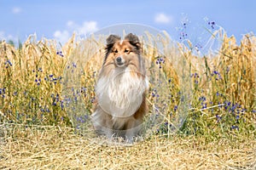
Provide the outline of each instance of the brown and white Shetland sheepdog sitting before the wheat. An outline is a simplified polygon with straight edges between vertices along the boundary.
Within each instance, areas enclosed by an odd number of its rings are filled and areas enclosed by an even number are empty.
[[[142,44],[134,34],[124,40],[107,38],[106,54],[96,82],[96,105],[91,116],[96,133],[132,143],[141,134],[147,112],[148,88]]]

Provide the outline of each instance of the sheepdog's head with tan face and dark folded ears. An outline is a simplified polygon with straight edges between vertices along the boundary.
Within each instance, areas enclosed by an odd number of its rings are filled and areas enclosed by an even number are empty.
[[[139,65],[141,44],[137,36],[129,34],[124,40],[116,35],[110,35],[107,39],[106,57],[104,65],[126,67]]]

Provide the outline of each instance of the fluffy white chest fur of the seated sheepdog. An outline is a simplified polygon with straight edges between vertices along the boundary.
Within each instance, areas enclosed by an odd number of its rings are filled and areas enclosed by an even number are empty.
[[[97,82],[98,104],[113,117],[131,116],[142,104],[146,88],[146,78],[131,76],[128,67],[117,68]]]

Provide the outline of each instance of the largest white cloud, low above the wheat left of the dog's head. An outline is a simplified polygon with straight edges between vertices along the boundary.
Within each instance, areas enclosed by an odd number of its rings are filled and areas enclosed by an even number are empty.
[[[61,43],[67,42],[74,31],[84,36],[98,30],[97,22],[94,20],[84,21],[82,26],[76,24],[73,20],[68,20],[66,26],[67,28],[64,31],[55,31],[53,35],[54,38]]]

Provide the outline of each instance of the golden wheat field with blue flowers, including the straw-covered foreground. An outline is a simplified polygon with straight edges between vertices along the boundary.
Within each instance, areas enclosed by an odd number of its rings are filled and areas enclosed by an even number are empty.
[[[100,48],[92,54],[93,40],[78,39],[73,35],[63,46],[35,36],[19,47],[0,42],[0,169],[256,168],[254,35],[241,42],[224,35],[218,53],[208,56],[197,56],[195,44],[184,46],[167,35],[161,39],[162,52],[154,37],[144,42],[147,74],[153,77],[148,115],[163,118],[129,147],[109,145],[90,126],[104,40],[94,40]],[[88,59],[86,65],[73,62],[75,56]],[[67,78],[76,77],[79,65],[80,87],[73,90]],[[82,99],[84,115],[71,115],[65,90]],[[182,114],[183,124],[174,132]],[[81,125],[83,133],[78,133]]]

